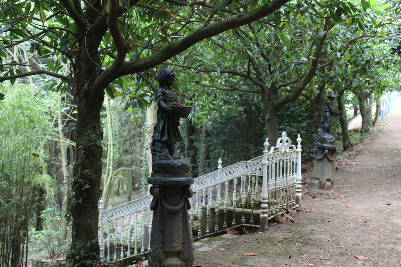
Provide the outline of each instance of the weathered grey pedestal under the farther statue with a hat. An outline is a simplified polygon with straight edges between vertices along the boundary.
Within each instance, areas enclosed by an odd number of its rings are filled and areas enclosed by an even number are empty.
[[[312,171],[312,179],[308,191],[322,193],[330,190],[334,185],[333,157],[336,154],[336,146],[333,143],[315,143],[316,154]]]

